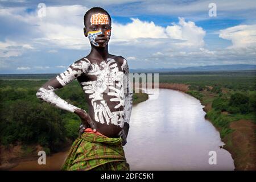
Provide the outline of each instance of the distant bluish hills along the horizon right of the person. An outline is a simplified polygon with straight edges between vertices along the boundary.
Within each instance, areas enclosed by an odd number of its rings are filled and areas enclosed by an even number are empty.
[[[200,72],[200,71],[246,71],[256,70],[256,64],[228,64],[209,65],[185,68],[155,68],[155,69],[130,69],[131,73],[137,72]]]

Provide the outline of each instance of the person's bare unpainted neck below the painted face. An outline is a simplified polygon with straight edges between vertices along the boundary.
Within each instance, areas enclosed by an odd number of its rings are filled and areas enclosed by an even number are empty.
[[[109,58],[108,45],[105,47],[92,47],[88,57],[96,60],[107,60]]]

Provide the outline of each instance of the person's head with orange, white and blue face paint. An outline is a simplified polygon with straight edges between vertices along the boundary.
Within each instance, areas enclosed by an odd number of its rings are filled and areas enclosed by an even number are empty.
[[[84,35],[96,47],[105,47],[111,35],[111,18],[101,7],[93,7],[84,15]]]

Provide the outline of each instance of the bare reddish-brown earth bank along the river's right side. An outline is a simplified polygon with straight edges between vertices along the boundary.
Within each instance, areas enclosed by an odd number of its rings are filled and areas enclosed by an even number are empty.
[[[179,90],[181,92],[190,94],[200,100],[201,104],[205,106],[203,110],[205,113],[212,111],[212,101],[216,94],[202,90],[200,93],[189,90],[187,84],[170,84],[170,83],[159,83],[159,88]],[[209,90],[212,89],[210,86]],[[199,95],[200,94],[200,95]],[[222,115],[229,113],[222,112]],[[239,119],[230,123],[229,127],[232,132],[222,135],[223,129],[219,125],[216,125],[214,119],[218,118],[209,117],[205,114],[205,118],[213,123],[213,126],[221,134],[221,140],[225,143],[224,149],[229,151],[234,159],[235,170],[256,170],[256,138],[255,130],[256,125],[249,119]]]

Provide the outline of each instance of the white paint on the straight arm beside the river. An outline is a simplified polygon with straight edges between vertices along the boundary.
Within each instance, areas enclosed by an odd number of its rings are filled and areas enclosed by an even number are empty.
[[[131,117],[131,109],[133,108],[133,92],[131,89],[131,83],[129,79],[129,67],[126,59],[123,59],[122,69],[125,74],[123,77],[123,89],[125,93],[125,122],[129,124]]]

